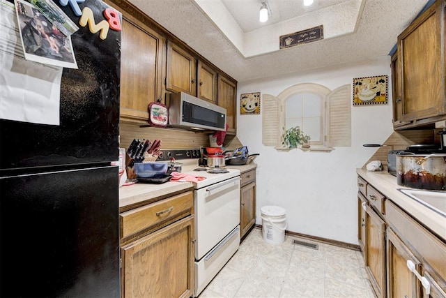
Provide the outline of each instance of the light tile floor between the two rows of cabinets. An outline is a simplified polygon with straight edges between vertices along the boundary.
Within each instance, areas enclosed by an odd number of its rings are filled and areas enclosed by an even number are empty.
[[[318,244],[318,250],[263,241],[254,228],[235,255],[206,287],[206,297],[374,298],[359,251]]]

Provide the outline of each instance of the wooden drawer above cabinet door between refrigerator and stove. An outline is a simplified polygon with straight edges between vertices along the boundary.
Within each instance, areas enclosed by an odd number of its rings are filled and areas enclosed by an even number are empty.
[[[125,211],[119,214],[121,238],[151,228],[153,225],[171,222],[184,214],[192,214],[193,204],[194,195],[190,191],[154,202],[153,204]]]

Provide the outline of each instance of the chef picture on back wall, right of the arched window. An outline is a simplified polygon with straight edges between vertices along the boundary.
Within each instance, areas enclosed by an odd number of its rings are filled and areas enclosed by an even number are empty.
[[[387,75],[353,79],[353,105],[387,104]]]

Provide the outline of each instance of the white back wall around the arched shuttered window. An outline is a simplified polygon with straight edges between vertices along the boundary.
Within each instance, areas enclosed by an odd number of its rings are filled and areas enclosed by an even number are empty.
[[[240,94],[261,92],[277,96],[299,83],[323,84],[336,89],[352,84],[354,77],[388,75],[388,104],[351,106],[352,147],[336,147],[331,153],[303,152],[299,149],[276,151],[262,144],[262,115],[240,115],[237,135],[249,153],[259,153],[257,167],[257,218],[260,208],[278,205],[286,209],[287,228],[291,232],[357,244],[357,167],[376,151],[362,147],[381,143],[392,133],[392,84],[390,57],[380,57],[363,64],[326,68],[312,73],[238,83]],[[262,111],[262,107],[261,107]]]

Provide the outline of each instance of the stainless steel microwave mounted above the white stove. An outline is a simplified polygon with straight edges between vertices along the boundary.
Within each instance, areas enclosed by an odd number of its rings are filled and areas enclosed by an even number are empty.
[[[178,92],[167,96],[169,126],[226,131],[226,109],[190,94]]]

